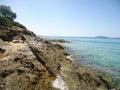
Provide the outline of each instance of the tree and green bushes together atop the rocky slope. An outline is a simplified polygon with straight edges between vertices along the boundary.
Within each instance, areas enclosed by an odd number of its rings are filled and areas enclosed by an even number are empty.
[[[16,17],[16,13],[11,10],[10,6],[0,5],[0,25],[7,27],[18,26],[26,29],[26,27],[19,22],[14,22]]]

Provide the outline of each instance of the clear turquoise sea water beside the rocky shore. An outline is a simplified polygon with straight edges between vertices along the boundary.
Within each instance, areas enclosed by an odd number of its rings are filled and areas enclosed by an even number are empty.
[[[120,78],[120,39],[48,37],[65,39],[71,43],[69,53],[76,57],[80,64],[94,70],[108,72]]]

